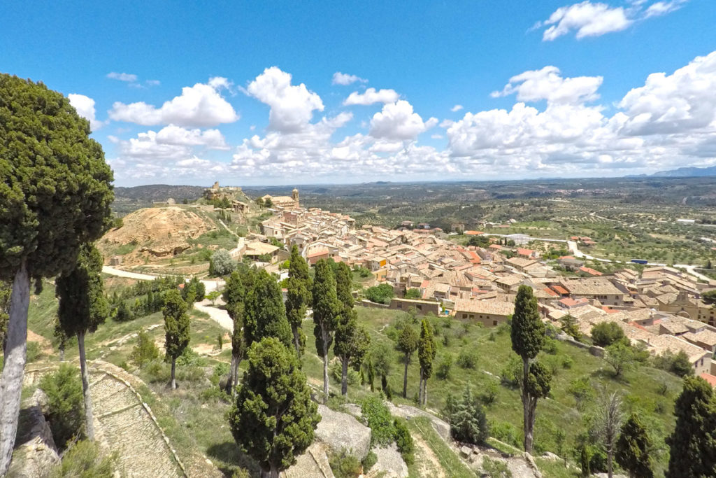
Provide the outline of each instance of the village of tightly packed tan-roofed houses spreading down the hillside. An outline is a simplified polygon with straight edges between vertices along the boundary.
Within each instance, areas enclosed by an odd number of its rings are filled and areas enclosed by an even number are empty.
[[[632,344],[642,344],[654,355],[684,351],[695,374],[716,385],[716,310],[701,298],[702,292],[715,287],[713,283],[697,282],[665,266],[644,267],[642,272],[625,267],[603,274],[572,255],[548,263],[542,256],[553,246],[527,249],[528,239],[518,234],[465,231],[485,238],[485,247],[478,247],[458,245],[442,229],[410,221],[398,229],[356,229],[354,219],[345,214],[301,208],[297,190],[291,197],[266,199],[273,201],[274,216],[261,223],[261,234],[253,234],[246,252],[256,254],[252,247],[263,244],[261,252],[276,262],[296,245],[309,264],[330,258],[368,269],[372,278],[366,285],[390,285],[395,297],[389,305],[367,300],[363,305],[414,307],[418,313],[493,327],[508,320],[518,287],[528,285],[538,298],[543,320],[557,328],[571,317],[579,332],[589,335],[600,322],[616,322]],[[593,244],[589,237],[571,239],[586,247]],[[284,243],[285,250],[266,243],[270,241]],[[571,274],[575,277],[565,271],[576,272]],[[409,290],[410,297],[417,298],[405,298]]]

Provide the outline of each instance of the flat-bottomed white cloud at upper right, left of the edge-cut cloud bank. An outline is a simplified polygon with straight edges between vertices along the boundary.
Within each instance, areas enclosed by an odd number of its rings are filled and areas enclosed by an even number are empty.
[[[510,78],[502,91],[493,91],[491,96],[500,97],[517,93],[519,101],[585,102],[596,100],[602,77],[563,78],[557,67],[531,70]]]

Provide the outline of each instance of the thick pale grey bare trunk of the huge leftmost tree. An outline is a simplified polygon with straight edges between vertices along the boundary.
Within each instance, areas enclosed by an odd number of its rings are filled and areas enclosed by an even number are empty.
[[[20,413],[22,375],[27,357],[27,308],[30,302],[30,278],[25,261],[16,272],[10,296],[10,317],[0,376],[0,477],[10,467],[12,449]]]

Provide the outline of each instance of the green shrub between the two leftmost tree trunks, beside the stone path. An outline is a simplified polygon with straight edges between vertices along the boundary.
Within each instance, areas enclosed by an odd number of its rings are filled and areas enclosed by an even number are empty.
[[[84,401],[79,369],[62,363],[57,372],[42,377],[40,388],[47,394],[49,426],[60,449],[73,436],[84,434]]]

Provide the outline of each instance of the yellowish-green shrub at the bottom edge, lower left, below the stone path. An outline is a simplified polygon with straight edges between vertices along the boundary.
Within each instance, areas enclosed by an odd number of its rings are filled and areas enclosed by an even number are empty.
[[[62,455],[62,462],[52,470],[52,478],[112,478],[115,475],[114,455],[100,452],[92,441],[77,441]]]

